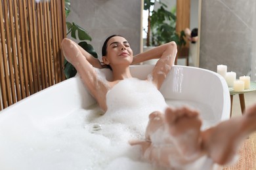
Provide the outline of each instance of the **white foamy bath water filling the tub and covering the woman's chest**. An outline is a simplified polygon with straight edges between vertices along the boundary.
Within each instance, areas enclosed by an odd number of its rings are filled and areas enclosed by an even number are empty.
[[[104,115],[96,104],[47,121],[11,115],[12,122],[0,126],[0,153],[5,153],[0,154],[0,169],[160,169],[142,160],[139,146],[128,141],[142,139],[148,114],[166,104],[154,87],[133,81],[119,82],[110,90]],[[211,109],[200,103],[169,100],[167,104],[189,105],[206,113],[202,114],[206,120],[213,119],[207,117]],[[125,106],[119,109],[119,105]]]

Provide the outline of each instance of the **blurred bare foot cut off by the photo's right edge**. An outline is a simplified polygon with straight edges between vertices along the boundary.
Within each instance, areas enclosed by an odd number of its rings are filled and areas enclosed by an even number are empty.
[[[203,148],[215,163],[232,163],[240,144],[256,131],[255,122],[256,104],[245,110],[243,116],[231,118],[203,131]]]

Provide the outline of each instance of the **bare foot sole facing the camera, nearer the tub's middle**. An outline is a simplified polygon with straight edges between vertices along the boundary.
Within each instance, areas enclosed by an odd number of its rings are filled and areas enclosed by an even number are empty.
[[[201,153],[200,127],[202,120],[196,110],[186,107],[165,110],[165,125],[171,134],[171,140],[181,154],[193,160]]]

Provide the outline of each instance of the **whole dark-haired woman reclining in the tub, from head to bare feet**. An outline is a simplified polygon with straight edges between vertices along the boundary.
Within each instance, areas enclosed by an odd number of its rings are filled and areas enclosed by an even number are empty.
[[[129,42],[119,35],[112,35],[104,42],[102,62],[93,58],[70,39],[62,41],[62,50],[65,58],[77,69],[81,80],[104,112],[110,109],[109,103],[107,105],[107,95],[110,94],[108,92],[122,80],[132,78],[129,65],[159,58],[148,80],[141,80],[152,84],[158,91],[171,70],[177,54],[175,42],[169,42],[133,56]],[[106,65],[112,69],[112,81],[99,76],[94,68],[103,68]],[[119,107],[122,109],[125,105]],[[199,118],[199,113],[187,107],[179,109],[167,107],[164,112],[156,110],[151,114],[150,112],[145,114],[149,115],[148,126],[145,127],[146,137],[142,141],[130,141],[130,144],[139,144],[146,160],[164,167],[176,166],[173,165],[174,162],[180,165],[190,163],[203,155],[209,156],[215,163],[221,165],[230,163],[242,141],[256,130],[256,105],[245,110],[242,117],[221,122],[205,131],[200,131],[202,120]],[[175,147],[169,147],[170,145]]]

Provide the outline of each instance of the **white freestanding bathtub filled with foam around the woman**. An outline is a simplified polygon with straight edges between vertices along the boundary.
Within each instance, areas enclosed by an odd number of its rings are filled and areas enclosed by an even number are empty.
[[[137,78],[146,78],[152,68],[153,65],[131,66],[131,73]],[[108,69],[102,71],[107,78],[111,77]],[[189,105],[200,110],[202,128],[229,118],[228,86],[224,78],[213,71],[175,65],[167,75],[160,92],[169,105]],[[127,158],[122,152],[115,153],[114,157],[110,156],[106,161],[106,155],[110,152],[107,149],[112,146],[102,147],[100,143],[109,141],[95,138],[93,132],[85,128],[85,119],[90,119],[86,114],[91,110],[100,112],[95,99],[87,92],[79,76],[35,93],[2,110],[0,169],[156,168],[141,161],[139,156],[129,161],[131,154]],[[86,142],[88,140],[91,142]],[[127,144],[126,147],[131,146]],[[101,151],[98,152],[95,148],[100,148],[98,150]],[[105,150],[104,158],[100,158],[102,150]],[[186,168],[213,167],[216,166],[205,156]]]

